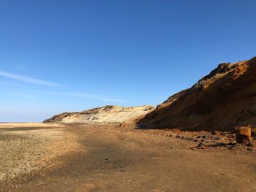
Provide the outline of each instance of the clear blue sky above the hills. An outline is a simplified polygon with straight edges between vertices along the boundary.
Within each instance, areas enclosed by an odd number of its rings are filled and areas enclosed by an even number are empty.
[[[157,105],[256,55],[252,0],[0,0],[0,121]]]

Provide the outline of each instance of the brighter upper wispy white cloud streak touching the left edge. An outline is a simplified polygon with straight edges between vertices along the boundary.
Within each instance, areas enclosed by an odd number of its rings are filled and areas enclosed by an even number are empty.
[[[21,75],[18,75],[18,74],[12,74],[12,73],[9,73],[9,72],[0,71],[0,76],[1,77],[7,77],[7,78],[10,78],[10,79],[13,79],[13,80],[29,82],[29,83],[37,84],[37,85],[45,85],[45,86],[50,86],[50,87],[64,87],[64,85],[61,85],[61,84],[56,83],[56,82],[48,82],[48,81],[45,81],[45,80],[39,80],[39,79],[32,78],[32,77],[24,77],[24,76],[21,76]]]

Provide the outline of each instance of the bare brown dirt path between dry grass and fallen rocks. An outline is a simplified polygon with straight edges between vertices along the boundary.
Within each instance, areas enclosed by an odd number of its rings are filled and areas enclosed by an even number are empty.
[[[186,140],[111,126],[61,131],[79,150],[59,155],[64,166],[14,180],[12,191],[256,191],[252,154],[191,150],[195,143]]]

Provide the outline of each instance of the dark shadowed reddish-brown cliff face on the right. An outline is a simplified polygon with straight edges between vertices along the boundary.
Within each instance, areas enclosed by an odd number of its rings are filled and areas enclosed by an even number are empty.
[[[219,64],[192,88],[170,96],[139,122],[145,128],[229,131],[256,123],[256,57]]]

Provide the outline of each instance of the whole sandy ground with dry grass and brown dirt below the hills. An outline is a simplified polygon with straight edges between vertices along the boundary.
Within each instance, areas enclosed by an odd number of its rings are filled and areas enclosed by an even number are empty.
[[[114,125],[0,123],[0,190],[256,191],[255,147],[234,147],[231,134],[220,134],[218,142],[215,137]],[[201,140],[204,149],[195,147]]]

